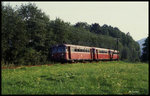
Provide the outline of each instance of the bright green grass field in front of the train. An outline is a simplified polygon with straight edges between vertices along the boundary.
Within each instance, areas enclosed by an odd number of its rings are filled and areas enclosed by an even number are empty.
[[[109,61],[2,69],[2,95],[149,94],[148,66]]]

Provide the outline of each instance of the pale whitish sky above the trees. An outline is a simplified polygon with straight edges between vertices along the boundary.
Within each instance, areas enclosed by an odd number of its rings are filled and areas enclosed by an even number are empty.
[[[13,7],[29,2],[3,2]],[[59,17],[75,24],[87,22],[118,27],[122,32],[130,32],[135,41],[148,36],[148,2],[30,2],[49,15],[50,20]]]

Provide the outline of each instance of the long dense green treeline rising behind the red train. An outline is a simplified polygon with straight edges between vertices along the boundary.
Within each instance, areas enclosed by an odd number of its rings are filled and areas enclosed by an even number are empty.
[[[18,8],[2,5],[2,58],[4,64],[45,64],[50,61],[50,47],[56,44],[76,44],[116,49],[120,59],[139,61],[140,47],[129,34],[117,27],[98,23],[50,20],[35,4]]]

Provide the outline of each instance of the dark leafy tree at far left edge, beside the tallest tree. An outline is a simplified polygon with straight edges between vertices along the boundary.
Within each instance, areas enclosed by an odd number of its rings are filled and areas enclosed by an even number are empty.
[[[4,62],[22,63],[26,44],[25,22],[11,6],[2,6],[2,58]]]

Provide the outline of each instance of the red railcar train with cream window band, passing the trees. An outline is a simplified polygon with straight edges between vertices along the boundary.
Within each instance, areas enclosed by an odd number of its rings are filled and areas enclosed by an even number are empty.
[[[119,51],[71,44],[51,48],[51,59],[61,62],[119,60]]]

